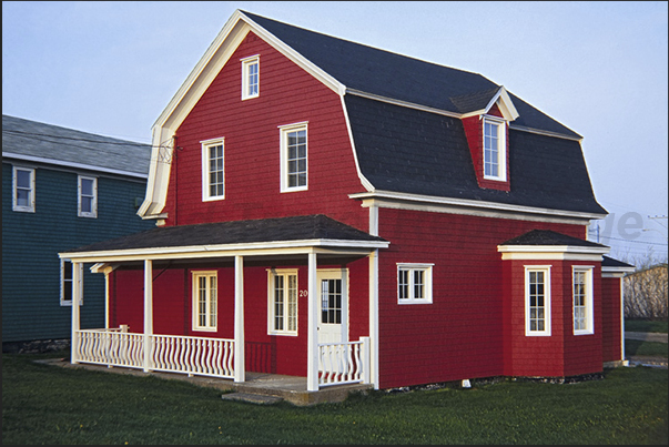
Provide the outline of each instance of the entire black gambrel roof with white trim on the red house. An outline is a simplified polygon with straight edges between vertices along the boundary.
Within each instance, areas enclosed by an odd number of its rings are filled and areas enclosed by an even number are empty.
[[[369,194],[419,195],[475,207],[601,219],[581,136],[503,85],[473,72],[375,49],[245,11],[235,11],[153,128],[169,141],[247,32],[254,32],[343,98],[362,186]],[[509,191],[476,180],[463,119],[497,105],[509,122]],[[154,152],[156,149],[154,149]],[[161,159],[155,153],[154,159]],[[144,217],[160,217],[169,164],[155,162]],[[366,194],[366,195],[365,195]],[[430,199],[432,200],[432,199]]]

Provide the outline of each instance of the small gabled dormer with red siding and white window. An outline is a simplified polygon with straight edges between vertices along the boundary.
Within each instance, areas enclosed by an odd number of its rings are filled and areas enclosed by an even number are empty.
[[[510,191],[509,122],[518,112],[504,87],[450,99],[462,120],[480,187]]]

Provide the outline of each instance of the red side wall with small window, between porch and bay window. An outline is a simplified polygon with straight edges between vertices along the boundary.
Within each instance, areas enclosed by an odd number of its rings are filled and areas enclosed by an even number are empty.
[[[379,254],[382,388],[501,375],[505,352],[521,343],[513,337],[505,346],[505,336],[509,331],[523,331],[525,338],[524,286],[514,294],[514,299],[520,297],[519,303],[514,302],[521,307],[519,313],[507,309],[507,262],[501,262],[497,245],[534,228],[575,237],[582,237],[585,230],[581,225],[391,209],[381,209],[378,221],[379,235],[392,241]],[[401,262],[434,263],[433,304],[397,304]],[[511,313],[510,318],[503,317],[506,312]],[[554,328],[559,324],[554,321]],[[555,352],[544,357],[550,375],[559,370],[548,368]]]

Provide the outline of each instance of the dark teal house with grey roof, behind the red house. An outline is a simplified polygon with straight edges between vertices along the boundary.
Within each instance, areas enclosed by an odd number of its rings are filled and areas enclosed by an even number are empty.
[[[136,215],[151,146],[2,115],[2,351],[71,337],[59,252],[154,226]],[[82,326],[104,327],[103,275],[83,266]]]

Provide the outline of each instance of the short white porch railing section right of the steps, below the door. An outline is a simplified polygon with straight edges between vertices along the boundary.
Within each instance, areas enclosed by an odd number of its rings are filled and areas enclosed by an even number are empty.
[[[369,338],[318,344],[318,386],[369,383]]]

